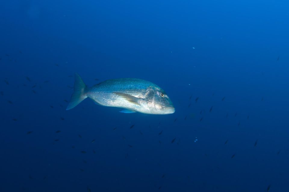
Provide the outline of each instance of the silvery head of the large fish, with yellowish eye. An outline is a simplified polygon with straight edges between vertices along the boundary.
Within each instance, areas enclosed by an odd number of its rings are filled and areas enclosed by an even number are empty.
[[[171,99],[160,87],[149,87],[145,100],[151,114],[172,114],[175,112]]]

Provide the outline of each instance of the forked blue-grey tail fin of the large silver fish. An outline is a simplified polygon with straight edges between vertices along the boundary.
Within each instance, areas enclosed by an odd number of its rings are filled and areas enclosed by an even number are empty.
[[[84,84],[82,78],[77,73],[75,73],[74,92],[71,95],[71,99],[66,110],[74,108],[84,99],[86,99],[87,98],[86,92],[87,86]]]

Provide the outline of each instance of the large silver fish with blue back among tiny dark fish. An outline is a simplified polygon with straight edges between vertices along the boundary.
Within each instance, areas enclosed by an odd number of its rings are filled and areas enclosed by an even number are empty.
[[[175,108],[164,90],[149,81],[110,79],[88,88],[76,73],[74,93],[66,110],[89,97],[96,104],[124,108],[123,113],[172,114]]]

